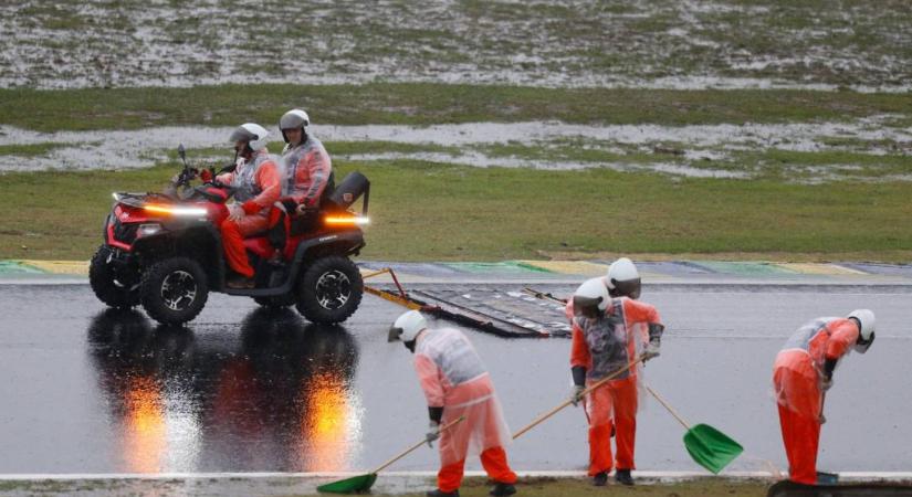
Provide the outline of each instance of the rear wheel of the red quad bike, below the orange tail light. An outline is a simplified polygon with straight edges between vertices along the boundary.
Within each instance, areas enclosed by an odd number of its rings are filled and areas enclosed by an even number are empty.
[[[311,322],[332,325],[348,319],[364,295],[364,281],[348,257],[314,261],[297,286],[297,310]]]

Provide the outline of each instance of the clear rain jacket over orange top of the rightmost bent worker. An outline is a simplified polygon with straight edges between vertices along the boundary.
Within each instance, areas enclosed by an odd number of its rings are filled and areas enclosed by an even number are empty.
[[[789,337],[773,364],[776,402],[816,416],[827,359],[840,359],[858,340],[858,326],[840,317],[814,319]]]

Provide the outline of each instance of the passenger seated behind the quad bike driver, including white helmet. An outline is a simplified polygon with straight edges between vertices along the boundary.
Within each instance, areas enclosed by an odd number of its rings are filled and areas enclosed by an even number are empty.
[[[283,195],[293,199],[301,209],[319,207],[323,197],[332,193],[335,182],[333,161],[323,144],[307,133],[310,125],[307,113],[298,108],[279,119],[279,129],[287,144],[282,150]]]

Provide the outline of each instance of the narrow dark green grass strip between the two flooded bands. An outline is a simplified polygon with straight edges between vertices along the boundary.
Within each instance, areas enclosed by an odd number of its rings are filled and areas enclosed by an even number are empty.
[[[241,96],[243,96],[241,98]],[[843,120],[895,114],[912,94],[805,91],[642,91],[431,83],[219,85],[190,88],[0,89],[0,124],[39,131],[277,123],[291,107],[315,124],[433,125],[558,120],[670,126]]]

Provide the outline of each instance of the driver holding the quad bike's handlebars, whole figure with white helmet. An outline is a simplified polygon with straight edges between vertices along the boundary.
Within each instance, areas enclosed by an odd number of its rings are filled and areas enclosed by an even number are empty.
[[[253,123],[234,129],[229,139],[234,142],[237,168],[217,178],[234,189],[234,203],[228,204],[230,215],[219,226],[226,261],[235,273],[226,283],[229,288],[255,286],[244,236],[269,228],[270,209],[282,195],[282,176],[266,149],[269,131]]]

